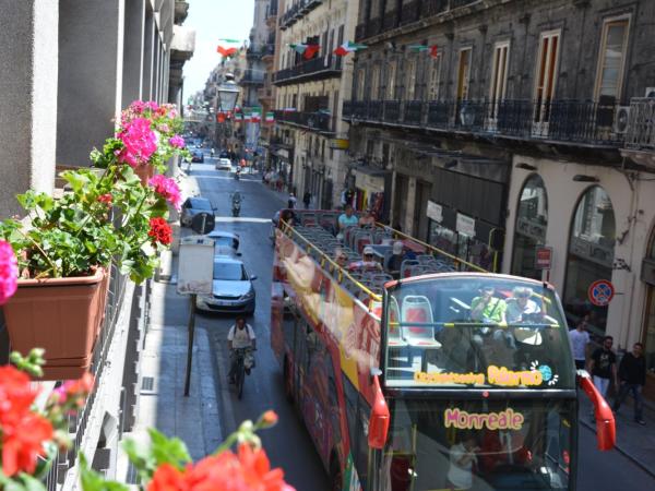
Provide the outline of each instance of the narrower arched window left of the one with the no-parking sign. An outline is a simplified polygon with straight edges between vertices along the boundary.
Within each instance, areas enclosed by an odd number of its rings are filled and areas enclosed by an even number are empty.
[[[525,181],[514,227],[514,252],[512,274],[541,279],[541,271],[535,268],[535,253],[546,242],[548,227],[548,194],[544,180],[532,175]]]

